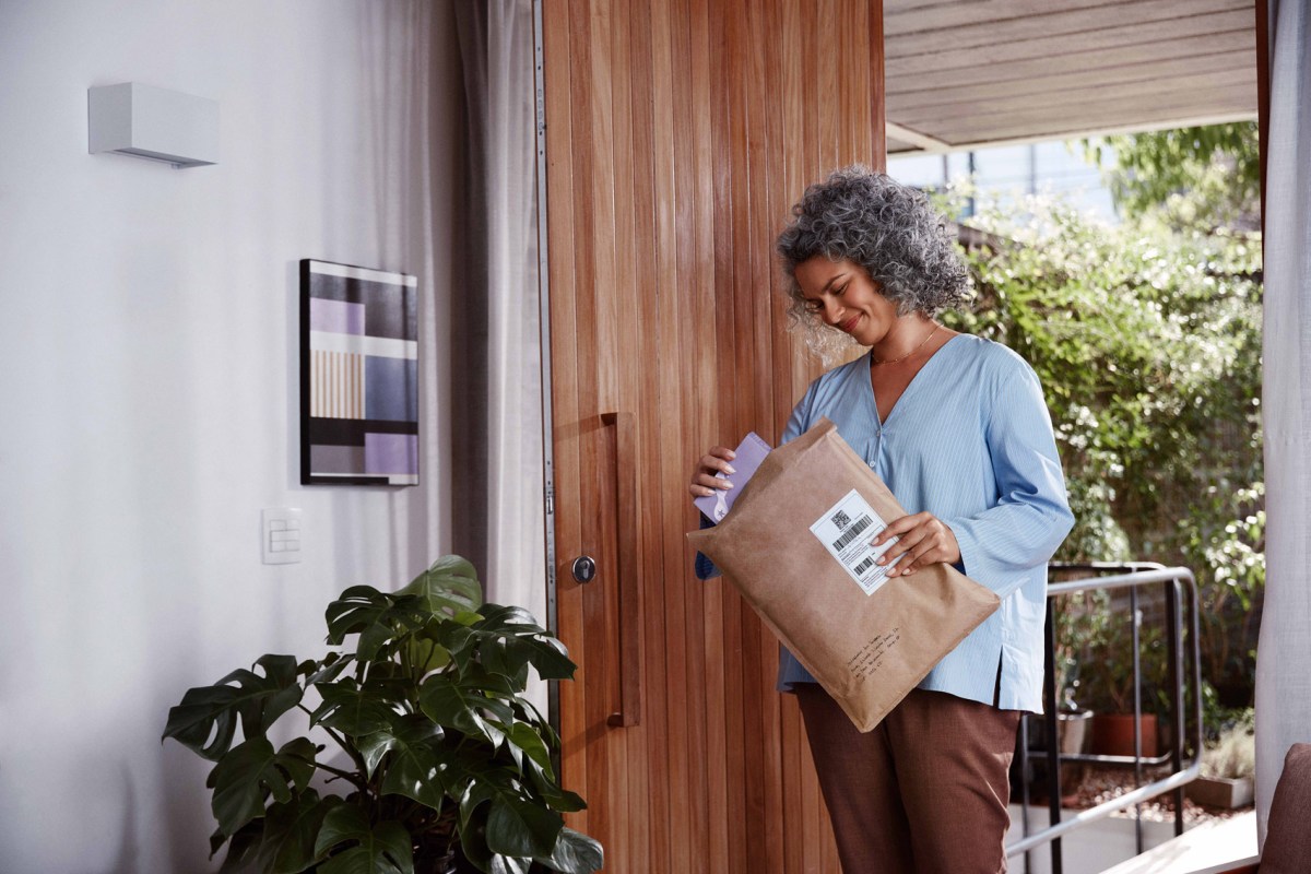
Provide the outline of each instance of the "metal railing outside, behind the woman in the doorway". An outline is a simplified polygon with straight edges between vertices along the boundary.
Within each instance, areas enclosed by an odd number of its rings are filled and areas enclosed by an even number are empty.
[[[1046,676],[1044,680],[1044,709],[1047,770],[1047,794],[1050,806],[1050,824],[1040,832],[1029,833],[1029,738],[1028,721],[1020,722],[1020,784],[1023,786],[1021,798],[1021,827],[1024,837],[1007,845],[1008,857],[1024,853],[1024,870],[1029,870],[1030,853],[1034,848],[1050,843],[1051,874],[1062,874],[1061,836],[1099,819],[1104,819],[1126,807],[1137,807],[1145,801],[1175,793],[1175,835],[1184,833],[1184,786],[1193,781],[1201,770],[1202,750],[1202,676],[1201,676],[1201,650],[1200,650],[1200,618],[1197,601],[1197,580],[1193,571],[1186,567],[1165,567],[1155,562],[1133,563],[1103,563],[1089,565],[1058,565],[1053,563],[1050,570],[1083,571],[1093,574],[1087,578],[1074,579],[1047,586],[1047,620],[1046,620]],[[1110,575],[1103,575],[1110,574]],[[1139,663],[1139,621],[1138,621],[1138,595],[1146,586],[1160,584],[1165,599],[1165,630],[1168,655],[1168,689],[1171,692],[1169,726],[1171,750],[1168,753],[1152,759],[1142,755],[1142,666]],[[1133,617],[1133,677],[1134,677],[1134,755],[1133,756],[1099,756],[1087,753],[1061,752],[1057,714],[1057,688],[1055,688],[1055,615],[1053,601],[1058,595],[1074,592],[1087,592],[1097,590],[1129,590],[1130,616]],[[1189,764],[1184,767],[1184,731],[1189,722],[1185,710],[1184,697],[1184,609],[1183,601],[1188,603],[1188,643],[1192,655],[1192,750]],[[1171,763],[1171,773],[1167,777],[1155,780],[1146,786],[1142,785],[1143,765]],[[1061,819],[1061,763],[1062,761],[1095,761],[1104,764],[1134,765],[1133,791],[1125,793],[1105,801],[1088,810],[1079,811],[1071,819]],[[1134,818],[1137,832],[1138,853],[1143,852],[1142,822]]]

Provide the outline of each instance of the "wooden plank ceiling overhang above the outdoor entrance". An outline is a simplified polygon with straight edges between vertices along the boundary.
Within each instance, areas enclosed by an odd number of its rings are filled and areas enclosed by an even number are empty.
[[[1253,0],[885,0],[889,155],[1252,121]]]

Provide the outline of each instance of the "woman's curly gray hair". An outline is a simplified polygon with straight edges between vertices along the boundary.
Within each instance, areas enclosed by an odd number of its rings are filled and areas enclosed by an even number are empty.
[[[878,283],[905,316],[936,316],[970,296],[970,274],[947,231],[947,219],[924,194],[884,173],[855,164],[834,170],[806,189],[779,235],[779,256],[788,276],[788,314],[808,332],[812,349],[827,355],[847,346],[846,334],[815,320],[797,286],[797,265],[814,256],[848,259]],[[838,342],[835,342],[838,341]]]

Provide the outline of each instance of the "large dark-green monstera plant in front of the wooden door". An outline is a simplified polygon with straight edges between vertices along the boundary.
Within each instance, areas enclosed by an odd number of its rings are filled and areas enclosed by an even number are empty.
[[[530,668],[574,672],[530,613],[482,603],[473,566],[446,556],[397,592],[347,588],[326,621],[338,650],[264,655],[169,710],[164,738],[215,763],[223,870],[602,866],[600,845],[564,824],[585,805],[560,785],[560,739],[522,694]],[[304,734],[275,746],[294,722]]]

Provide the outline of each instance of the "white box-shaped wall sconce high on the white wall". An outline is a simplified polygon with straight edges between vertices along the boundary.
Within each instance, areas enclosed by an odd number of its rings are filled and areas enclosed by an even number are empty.
[[[219,161],[219,101],[140,83],[87,89],[90,153],[113,152],[176,169]]]

